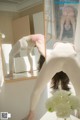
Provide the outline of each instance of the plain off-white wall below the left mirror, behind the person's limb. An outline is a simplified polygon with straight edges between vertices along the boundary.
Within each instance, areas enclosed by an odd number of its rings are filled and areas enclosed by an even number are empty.
[[[5,83],[0,91],[0,112],[9,112],[10,120],[21,120],[29,111],[30,96],[36,80]],[[36,120],[45,113],[47,91],[44,90],[36,110]]]

